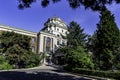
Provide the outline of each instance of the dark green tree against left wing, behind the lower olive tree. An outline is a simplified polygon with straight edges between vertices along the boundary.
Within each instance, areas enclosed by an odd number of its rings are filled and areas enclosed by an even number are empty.
[[[30,50],[30,37],[14,32],[2,32],[0,36],[3,53],[11,46],[18,44],[21,48]]]

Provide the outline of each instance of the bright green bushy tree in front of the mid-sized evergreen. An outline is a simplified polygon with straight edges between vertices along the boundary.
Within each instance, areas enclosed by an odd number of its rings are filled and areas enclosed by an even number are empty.
[[[65,63],[70,68],[86,68],[93,69],[94,64],[88,54],[85,53],[81,46],[76,49],[67,48],[67,53],[65,53]]]

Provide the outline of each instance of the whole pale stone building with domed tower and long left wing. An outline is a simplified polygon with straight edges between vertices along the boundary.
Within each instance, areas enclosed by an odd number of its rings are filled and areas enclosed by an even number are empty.
[[[49,18],[38,33],[0,25],[0,33],[2,31],[13,31],[18,34],[30,36],[32,51],[38,54],[44,52],[49,57],[52,53],[55,53],[60,44],[65,45],[67,43],[67,40],[64,38],[68,32],[67,25],[57,17]]]

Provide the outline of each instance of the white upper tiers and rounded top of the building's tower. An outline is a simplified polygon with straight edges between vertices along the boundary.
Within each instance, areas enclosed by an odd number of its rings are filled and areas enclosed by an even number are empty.
[[[61,35],[66,36],[67,26],[63,20],[57,17],[49,18],[45,24],[44,28],[41,30],[47,33],[51,33],[60,37]]]

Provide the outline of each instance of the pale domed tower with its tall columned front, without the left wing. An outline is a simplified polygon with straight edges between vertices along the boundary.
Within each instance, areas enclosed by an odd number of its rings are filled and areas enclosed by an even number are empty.
[[[55,52],[60,44],[66,44],[67,25],[57,17],[49,18],[38,33],[38,53]]]

